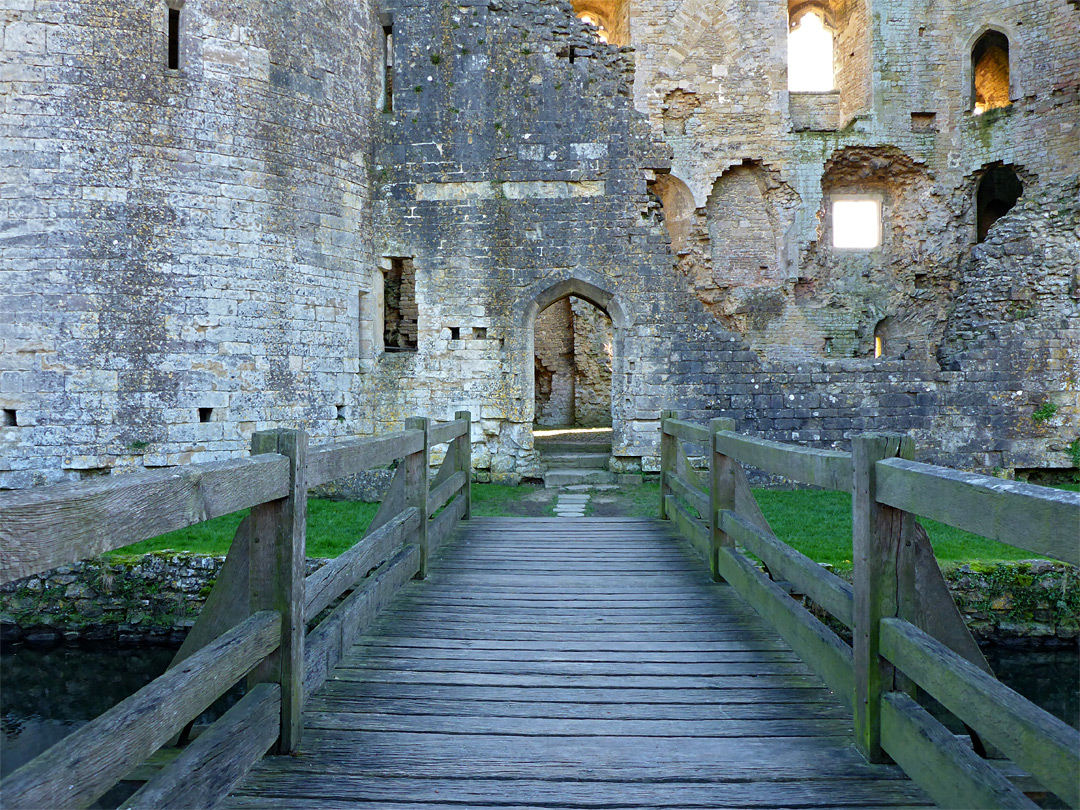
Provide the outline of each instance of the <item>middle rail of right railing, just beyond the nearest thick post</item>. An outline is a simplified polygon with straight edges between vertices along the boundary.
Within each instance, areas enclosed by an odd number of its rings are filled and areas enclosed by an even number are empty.
[[[760,557],[773,578],[794,582],[799,593],[809,596],[848,627],[852,626],[854,595],[851,585],[733,512],[721,514],[720,527]]]

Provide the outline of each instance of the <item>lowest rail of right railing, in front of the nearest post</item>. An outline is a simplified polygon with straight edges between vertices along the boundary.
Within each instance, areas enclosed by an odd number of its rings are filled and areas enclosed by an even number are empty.
[[[1037,807],[903,692],[881,696],[881,741],[940,807]]]

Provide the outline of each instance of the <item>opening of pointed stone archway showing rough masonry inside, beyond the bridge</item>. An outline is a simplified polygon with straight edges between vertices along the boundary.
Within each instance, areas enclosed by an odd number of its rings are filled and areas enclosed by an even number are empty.
[[[537,427],[611,426],[611,319],[584,298],[566,296],[536,320]]]

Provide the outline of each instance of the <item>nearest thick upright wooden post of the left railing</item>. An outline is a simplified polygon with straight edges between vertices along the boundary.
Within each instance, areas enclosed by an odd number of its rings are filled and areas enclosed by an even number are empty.
[[[308,436],[303,431],[260,431],[252,436],[252,455],[278,453],[289,459],[289,495],[252,508],[248,557],[251,611],[281,613],[281,647],[247,676],[256,684],[281,685],[279,754],[300,747],[303,708],[303,579],[307,561]]]

